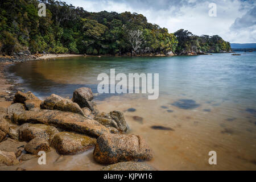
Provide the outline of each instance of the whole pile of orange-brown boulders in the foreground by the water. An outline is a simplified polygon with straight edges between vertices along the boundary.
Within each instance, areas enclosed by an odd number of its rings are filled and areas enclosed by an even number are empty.
[[[94,147],[96,162],[115,164],[104,170],[153,169],[138,163],[151,160],[153,154],[140,136],[127,134],[123,113],[99,113],[92,100],[90,88],[75,90],[72,100],[52,94],[41,101],[31,92],[18,91],[6,113],[0,114],[0,166],[19,164],[51,148],[60,155],[75,155]],[[15,146],[20,142],[24,144]]]

